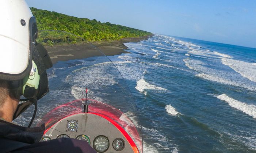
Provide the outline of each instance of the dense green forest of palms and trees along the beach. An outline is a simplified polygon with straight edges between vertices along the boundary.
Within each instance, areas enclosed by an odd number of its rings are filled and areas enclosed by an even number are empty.
[[[139,37],[152,34],[139,29],[111,24],[109,22],[101,23],[95,19],[78,18],[33,7],[30,9],[37,20],[37,28],[39,30],[37,42],[47,46],[53,46],[53,44],[57,43],[75,44],[81,40],[120,40],[127,37]]]

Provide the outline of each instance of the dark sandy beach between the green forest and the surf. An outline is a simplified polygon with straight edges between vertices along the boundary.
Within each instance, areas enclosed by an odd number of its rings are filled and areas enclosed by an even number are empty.
[[[124,51],[124,49],[128,49],[124,43],[137,43],[142,40],[148,40],[150,36],[152,35],[129,37],[116,41],[94,41],[91,43],[98,47],[106,56],[114,56],[122,53],[130,53]],[[58,61],[68,61],[91,57],[92,55],[90,55],[89,52],[85,53],[83,51],[94,50],[93,47],[88,43],[55,45],[53,47],[46,46],[45,48],[47,49],[53,64],[57,63]]]

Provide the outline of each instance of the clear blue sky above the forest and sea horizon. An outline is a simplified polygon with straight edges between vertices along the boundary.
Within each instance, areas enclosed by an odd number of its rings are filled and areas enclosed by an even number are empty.
[[[256,0],[26,0],[30,7],[163,35],[256,48]]]

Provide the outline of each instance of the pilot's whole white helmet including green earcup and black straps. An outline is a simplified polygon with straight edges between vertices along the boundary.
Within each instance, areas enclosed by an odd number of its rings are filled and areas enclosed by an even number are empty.
[[[49,92],[46,69],[52,67],[43,45],[36,42],[37,23],[24,0],[0,0],[0,80],[9,82],[17,99],[15,119]],[[32,124],[35,113],[29,126]]]

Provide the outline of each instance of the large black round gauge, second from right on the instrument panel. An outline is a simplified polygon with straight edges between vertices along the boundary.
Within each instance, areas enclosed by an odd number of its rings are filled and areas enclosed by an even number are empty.
[[[98,136],[93,141],[93,148],[99,152],[103,153],[108,150],[109,147],[109,141],[108,138],[105,136]]]

